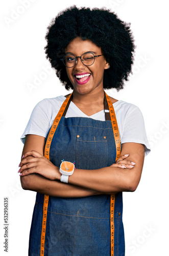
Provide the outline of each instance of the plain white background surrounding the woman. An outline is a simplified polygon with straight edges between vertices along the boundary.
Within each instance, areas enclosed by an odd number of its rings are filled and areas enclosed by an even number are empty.
[[[26,6],[27,2],[27,6]],[[22,4],[21,4],[22,3]],[[25,3],[25,7],[23,7]],[[59,3],[59,4],[58,4]],[[133,75],[126,87],[108,94],[139,106],[152,152],[144,162],[140,184],[124,193],[126,255],[168,253],[168,32],[167,1],[161,0],[25,0],[1,6],[1,255],[28,254],[29,231],[36,193],[22,190],[18,164],[19,138],[31,112],[43,98],[67,94],[45,59],[46,27],[59,11],[107,7],[131,23],[137,45]],[[2,3],[1,3],[2,5]],[[37,85],[37,77],[39,77]],[[35,84],[36,83],[36,84]],[[30,84],[34,87],[30,89]],[[4,197],[9,198],[9,252],[4,252]]]

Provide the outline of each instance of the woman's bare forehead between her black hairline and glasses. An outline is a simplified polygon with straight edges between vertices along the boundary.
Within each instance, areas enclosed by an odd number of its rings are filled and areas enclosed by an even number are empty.
[[[76,55],[81,55],[88,51],[92,51],[97,54],[102,53],[101,48],[96,46],[94,42],[90,41],[89,39],[82,40],[81,37],[76,37],[73,39],[65,48],[65,53],[73,53]]]

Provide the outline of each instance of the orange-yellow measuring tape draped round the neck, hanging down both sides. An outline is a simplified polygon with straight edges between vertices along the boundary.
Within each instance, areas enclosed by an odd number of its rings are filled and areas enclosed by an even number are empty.
[[[50,146],[51,142],[54,136],[54,133],[58,127],[59,121],[64,113],[64,110],[66,108],[66,105],[70,99],[70,96],[73,93],[71,93],[63,102],[60,111],[58,112],[53,125],[51,127],[50,133],[47,137],[45,148],[44,148],[44,156],[50,160]],[[105,93],[106,94],[106,93]],[[113,133],[114,133],[114,139],[115,139],[115,145],[116,145],[116,159],[115,161],[119,158],[120,156],[120,137],[119,137],[119,131],[118,131],[118,126],[117,126],[117,120],[115,117],[115,112],[113,105],[111,103],[111,100],[109,96],[106,94],[108,106],[109,106],[109,111],[110,111],[110,117],[111,117],[111,123],[112,123],[112,128],[113,128]],[[45,232],[46,232],[46,219],[47,219],[47,206],[49,203],[49,196],[44,195],[44,202],[43,202],[43,217],[42,217],[42,230],[41,230],[41,241],[40,241],[40,256],[44,256],[44,242],[45,242]],[[111,232],[111,256],[114,255],[114,203],[115,203],[115,194],[111,195],[110,199],[110,232]]]

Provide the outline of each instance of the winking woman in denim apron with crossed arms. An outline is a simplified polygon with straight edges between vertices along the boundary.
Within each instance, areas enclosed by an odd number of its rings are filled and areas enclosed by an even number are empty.
[[[149,144],[139,109],[104,89],[128,80],[130,28],[109,10],[74,6],[46,40],[73,94],[39,102],[21,137],[21,185],[37,191],[29,255],[125,255],[122,191],[136,189]]]

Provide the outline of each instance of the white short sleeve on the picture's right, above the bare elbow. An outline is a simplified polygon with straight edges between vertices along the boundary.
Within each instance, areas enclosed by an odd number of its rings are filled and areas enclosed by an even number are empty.
[[[145,156],[150,152],[150,145],[147,139],[144,120],[140,109],[130,104],[124,122],[122,143],[135,142],[144,145]]]

